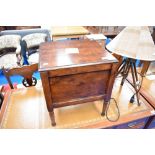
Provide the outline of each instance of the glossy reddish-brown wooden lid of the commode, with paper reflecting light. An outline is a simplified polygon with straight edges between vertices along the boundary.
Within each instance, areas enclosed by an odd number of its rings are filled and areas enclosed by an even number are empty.
[[[96,41],[90,40],[43,43],[39,50],[39,71],[117,62]]]

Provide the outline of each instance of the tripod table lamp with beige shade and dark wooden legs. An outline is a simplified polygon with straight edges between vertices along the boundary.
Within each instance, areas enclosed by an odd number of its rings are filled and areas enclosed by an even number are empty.
[[[131,69],[133,86],[137,103],[140,105],[138,93],[140,84],[136,70],[136,59],[143,61],[155,60],[155,45],[148,27],[126,27],[107,46],[107,50],[119,56],[126,57],[119,66],[118,73],[122,73],[121,85]],[[143,75],[142,75],[143,76]],[[141,82],[142,84],[142,82]],[[134,95],[131,102],[134,100]]]

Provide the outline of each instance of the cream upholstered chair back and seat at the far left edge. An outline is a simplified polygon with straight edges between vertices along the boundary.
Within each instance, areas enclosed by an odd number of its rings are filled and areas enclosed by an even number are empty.
[[[14,68],[23,64],[19,35],[0,36],[0,69]]]

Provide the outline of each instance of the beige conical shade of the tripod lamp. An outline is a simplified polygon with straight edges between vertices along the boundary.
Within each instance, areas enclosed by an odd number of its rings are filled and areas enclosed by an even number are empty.
[[[155,45],[146,26],[126,27],[106,48],[113,53],[145,61],[155,60]]]

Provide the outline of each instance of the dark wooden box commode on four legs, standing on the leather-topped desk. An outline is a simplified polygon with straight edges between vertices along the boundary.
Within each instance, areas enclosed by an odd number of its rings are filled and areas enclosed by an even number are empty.
[[[39,71],[52,125],[54,108],[111,98],[117,59],[96,41],[70,40],[40,45]]]

